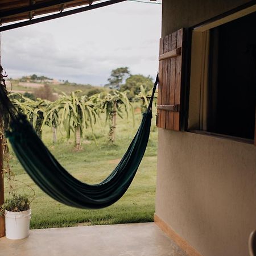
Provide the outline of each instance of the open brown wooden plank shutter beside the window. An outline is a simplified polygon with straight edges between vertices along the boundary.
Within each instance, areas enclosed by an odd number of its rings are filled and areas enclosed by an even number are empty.
[[[180,131],[184,29],[160,39],[156,126]]]

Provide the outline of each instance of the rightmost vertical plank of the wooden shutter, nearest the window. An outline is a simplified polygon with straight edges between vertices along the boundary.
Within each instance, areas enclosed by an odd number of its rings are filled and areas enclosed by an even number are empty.
[[[183,29],[177,31],[177,47],[183,46]],[[176,57],[176,77],[175,77],[175,94],[174,94],[174,104],[180,105],[181,96],[181,62],[183,56],[183,48],[181,48],[181,55]],[[174,130],[180,130],[180,112],[174,113]]]

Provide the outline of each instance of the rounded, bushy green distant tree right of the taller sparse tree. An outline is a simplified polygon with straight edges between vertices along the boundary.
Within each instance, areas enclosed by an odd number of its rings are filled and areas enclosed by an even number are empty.
[[[151,77],[146,77],[143,75],[131,75],[126,79],[125,84],[121,85],[120,91],[124,92],[129,90],[127,96],[129,99],[131,99],[141,92],[141,85],[143,86],[145,92],[148,92],[153,86]]]

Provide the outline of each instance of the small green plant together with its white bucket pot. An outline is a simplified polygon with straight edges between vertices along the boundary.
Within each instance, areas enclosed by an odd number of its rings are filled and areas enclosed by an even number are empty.
[[[7,238],[16,240],[28,236],[31,209],[27,195],[11,195],[1,205],[0,214],[5,214]]]

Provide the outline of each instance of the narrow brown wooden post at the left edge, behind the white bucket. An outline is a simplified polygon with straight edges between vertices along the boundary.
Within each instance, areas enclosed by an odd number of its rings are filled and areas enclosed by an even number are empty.
[[[0,65],[1,65],[1,33],[0,33]],[[1,85],[0,85],[1,86]],[[5,202],[3,184],[3,123],[0,113],[0,205]],[[5,236],[5,216],[0,216],[0,237]]]

